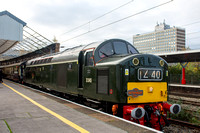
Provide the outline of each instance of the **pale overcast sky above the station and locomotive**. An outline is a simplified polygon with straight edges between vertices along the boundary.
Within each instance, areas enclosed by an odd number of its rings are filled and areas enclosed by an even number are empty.
[[[133,35],[154,31],[156,23],[165,20],[170,26],[185,28],[186,46],[200,49],[200,0],[173,0],[136,15],[168,1],[170,0],[1,0],[0,11],[9,11],[50,40],[55,36],[65,48],[110,38],[125,39],[132,43]],[[124,4],[126,5],[89,23]],[[134,16],[74,38],[130,15]],[[88,24],[67,33],[85,23]]]

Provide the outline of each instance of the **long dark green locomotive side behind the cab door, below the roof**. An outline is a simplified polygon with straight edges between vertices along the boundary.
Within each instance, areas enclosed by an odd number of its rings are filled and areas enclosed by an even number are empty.
[[[69,64],[72,65],[71,69],[69,69]],[[65,71],[62,71],[61,68]],[[27,67],[25,71],[26,83],[64,93],[78,93],[78,65],[76,62]],[[58,73],[62,73],[66,81],[63,81]],[[66,84],[63,84],[63,82]]]

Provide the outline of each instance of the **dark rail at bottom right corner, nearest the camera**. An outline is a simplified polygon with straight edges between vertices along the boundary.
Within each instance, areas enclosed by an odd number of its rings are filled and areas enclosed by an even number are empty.
[[[191,128],[191,129],[195,129],[195,130],[200,131],[200,125],[194,125],[194,124],[191,124],[189,122],[174,120],[174,119],[169,119],[168,121],[171,124],[175,124],[175,125],[179,125],[179,126],[182,126],[182,127],[187,127],[187,128]]]

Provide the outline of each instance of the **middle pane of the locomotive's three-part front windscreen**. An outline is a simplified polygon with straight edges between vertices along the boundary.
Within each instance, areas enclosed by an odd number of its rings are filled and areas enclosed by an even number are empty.
[[[124,42],[114,42],[114,49],[116,54],[128,54],[127,44]]]

